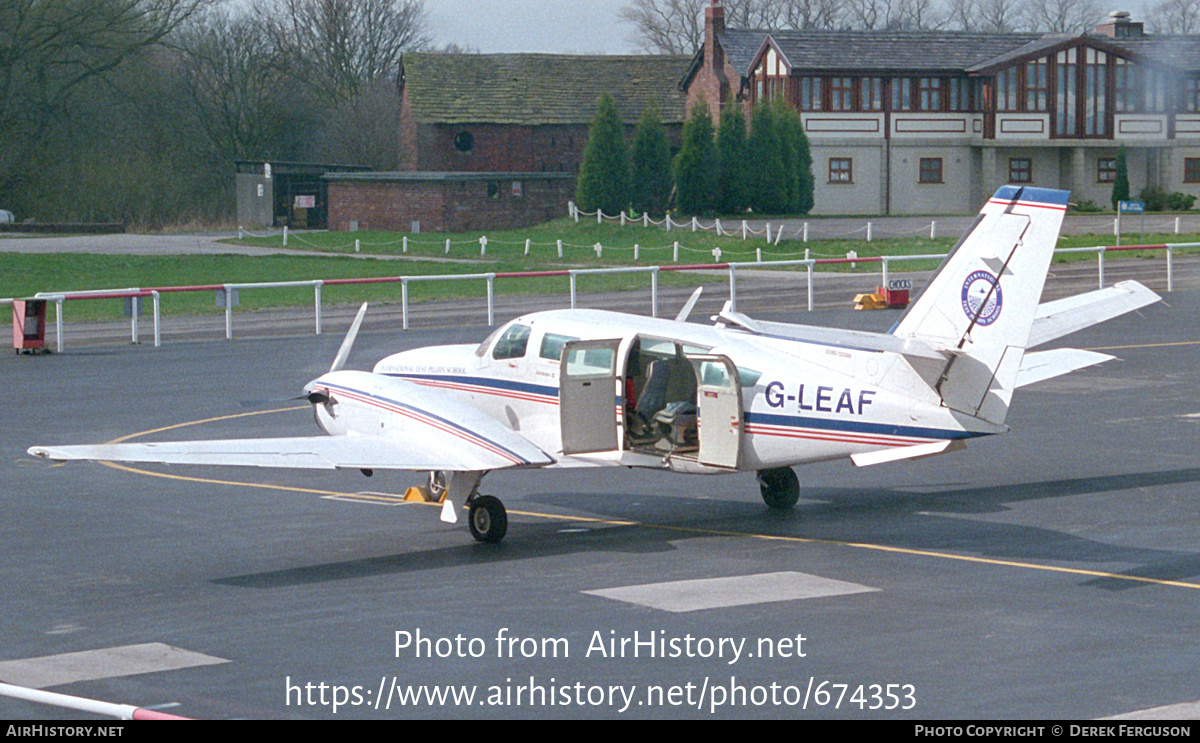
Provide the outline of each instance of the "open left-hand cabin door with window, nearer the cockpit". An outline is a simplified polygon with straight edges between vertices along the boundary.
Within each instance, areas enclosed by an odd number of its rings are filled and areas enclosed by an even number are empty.
[[[617,348],[610,341],[569,341],[558,375],[563,454],[614,451],[618,447]]]

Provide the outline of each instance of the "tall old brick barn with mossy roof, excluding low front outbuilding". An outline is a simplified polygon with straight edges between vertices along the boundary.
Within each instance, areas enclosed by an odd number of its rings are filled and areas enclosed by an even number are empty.
[[[406,54],[400,82],[402,170],[577,173],[604,92],[632,138],[655,107],[678,142],[684,56]]]

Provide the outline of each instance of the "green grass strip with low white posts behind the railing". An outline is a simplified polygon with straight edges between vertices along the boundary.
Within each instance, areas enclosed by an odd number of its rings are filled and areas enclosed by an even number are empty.
[[[740,238],[715,236],[710,233],[688,229],[667,232],[661,227],[643,228],[605,223],[559,220],[534,228],[493,232],[487,235],[487,247],[480,256],[482,233],[421,234],[408,236],[409,260],[370,260],[349,258],[355,252],[355,240],[362,253],[404,257],[406,235],[398,233],[304,233],[289,235],[288,247],[310,251],[308,256],[103,256],[103,254],[25,254],[0,253],[0,296],[29,296],[37,292],[119,289],[126,287],[174,287],[217,283],[247,283],[275,281],[307,281],[332,278],[366,278],[385,276],[430,276],[440,274],[520,272],[568,268],[601,268],[617,265],[670,265],[678,241],[680,264],[714,263],[713,250],[720,248],[721,262],[782,260],[804,258],[805,248],[812,258],[845,258],[851,251],[860,258],[872,256],[940,254],[949,252],[956,239],[905,238],[874,240],[822,240],[800,242],[784,240],[770,245],[763,236],[743,241]],[[445,242],[450,240],[450,253]],[[529,253],[526,254],[526,241]],[[563,241],[563,256],[558,256],[558,240]],[[282,236],[247,238],[246,244],[282,246]],[[1091,247],[1111,241],[1111,235],[1066,235],[1060,247]],[[1126,242],[1129,236],[1126,236]],[[1156,234],[1138,238],[1139,242],[1193,242],[1200,235]],[[594,245],[604,246],[596,254]],[[635,247],[637,256],[635,258]],[[1162,258],[1163,251],[1135,251],[1110,254],[1120,257]],[[449,260],[448,260],[449,258]],[[1094,260],[1096,254],[1060,254],[1057,260]],[[892,271],[928,270],[938,259],[893,264]],[[794,270],[804,270],[797,268]],[[877,262],[822,265],[817,270],[875,274]],[[713,281],[712,275],[694,272],[661,272],[662,286],[692,286]],[[719,278],[718,278],[719,280]],[[644,274],[587,276],[580,280],[580,292],[606,292],[620,289],[644,289],[650,280]],[[496,282],[498,294],[530,294],[569,292],[566,277],[544,277],[527,281],[500,280]],[[484,296],[486,284],[478,281],[413,282],[409,284],[410,301],[445,300],[467,296]],[[400,283],[372,283],[356,286],[326,286],[322,289],[323,304],[341,302],[398,302]],[[239,310],[311,306],[312,288],[247,289],[240,293]],[[67,313],[79,319],[113,319],[122,316],[121,300],[73,301]],[[162,311],[168,314],[203,314],[222,310],[216,306],[212,292],[173,293],[164,295]]]

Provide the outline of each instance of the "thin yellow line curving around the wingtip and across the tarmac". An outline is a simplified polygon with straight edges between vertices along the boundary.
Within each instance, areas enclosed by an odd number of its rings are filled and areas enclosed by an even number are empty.
[[[1196,341],[1194,343],[1200,343],[1200,341]],[[149,436],[151,433],[160,433],[162,431],[172,431],[172,430],[178,430],[178,429],[185,429],[187,426],[197,426],[197,425],[208,424],[208,423],[217,423],[217,421],[222,421],[222,420],[233,420],[233,419],[238,419],[238,418],[248,418],[248,417],[252,417],[252,415],[268,415],[268,414],[271,414],[271,413],[286,413],[286,412],[289,412],[289,411],[302,411],[302,409],[305,409],[302,406],[294,406],[294,407],[287,407],[287,408],[275,408],[275,409],[270,409],[270,411],[256,411],[256,412],[252,412],[252,413],[236,413],[236,414],[233,414],[233,415],[217,415],[215,418],[205,418],[203,420],[193,420],[193,421],[188,421],[188,423],[181,423],[181,424],[174,424],[174,425],[170,425],[170,426],[163,426],[163,427],[160,427],[160,429],[152,429],[152,430],[149,430],[149,431],[142,431],[142,432],[138,432],[138,433],[130,433],[128,436],[122,436],[120,438],[115,438],[115,439],[113,439],[110,442],[107,442],[107,443],[116,444],[116,443],[126,442],[126,441],[130,441],[130,439],[133,439],[133,438],[138,438],[138,437],[142,437],[142,436]],[[182,481],[187,481],[187,483],[202,483],[202,484],[205,484],[205,485],[229,485],[229,486],[234,486],[234,487],[257,487],[257,489],[262,489],[262,490],[277,490],[277,491],[290,491],[290,492],[300,492],[300,493],[312,493],[312,495],[319,495],[319,496],[323,496],[323,497],[331,497],[330,499],[340,499],[340,501],[341,499],[348,499],[348,498],[371,499],[371,497],[372,497],[368,493],[350,493],[350,492],[340,492],[340,491],[330,491],[330,490],[317,490],[317,489],[311,489],[311,487],[298,487],[298,486],[294,486],[294,485],[270,485],[270,484],[266,484],[266,483],[247,483],[247,481],[240,481],[240,480],[217,480],[217,479],[211,479],[211,478],[196,478],[196,477],[191,477],[191,475],[178,475],[178,474],[169,474],[169,473],[164,473],[164,472],[154,472],[154,471],[150,471],[150,469],[139,469],[137,467],[130,467],[127,465],[118,465],[115,462],[100,462],[100,463],[104,465],[106,467],[112,467],[114,469],[120,469],[120,471],[130,472],[130,473],[133,473],[133,474],[149,475],[149,477],[154,477],[154,478],[166,478],[166,479],[169,479],[169,480],[182,480]],[[376,496],[376,497],[379,501],[386,501],[386,503],[389,503],[389,504],[391,504],[394,502],[392,498],[390,498],[390,497],[378,497],[378,496]],[[418,505],[436,505],[436,507],[440,508],[440,504],[438,504],[438,503],[421,503],[421,502],[413,502],[413,503],[415,503]],[[463,508],[466,508],[466,505],[463,505]],[[590,517],[590,516],[568,516],[568,515],[563,515],[563,514],[544,514],[544,513],[539,513],[539,511],[509,510],[509,513],[512,514],[512,515],[528,516],[528,517],[532,517],[532,519],[546,519],[546,520],[552,520],[552,521],[571,521],[571,522],[582,522],[582,523],[598,523],[598,525],[605,525],[605,526],[640,527],[640,528],[646,528],[646,529],[658,529],[658,531],[662,531],[662,532],[678,532],[678,533],[685,533],[685,534],[703,534],[703,535],[707,535],[707,537],[740,537],[740,538],[745,538],[745,539],[761,539],[761,540],[766,540],[766,541],[786,541],[786,543],[792,543],[792,544],[834,545],[834,546],[841,546],[841,547],[853,547],[853,549],[857,549],[857,550],[874,550],[874,551],[877,551],[877,552],[889,552],[889,553],[893,553],[893,555],[906,555],[906,556],[911,556],[911,557],[930,557],[930,558],[936,558],[936,559],[949,559],[949,561],[974,563],[974,564],[982,564],[982,565],[992,565],[992,567],[1000,567],[1000,568],[1019,568],[1019,569],[1024,569],[1024,570],[1042,570],[1042,571],[1045,571],[1045,573],[1060,573],[1060,574],[1066,574],[1066,575],[1078,575],[1078,576],[1084,576],[1084,577],[1090,577],[1090,579],[1111,579],[1111,580],[1118,580],[1118,581],[1132,581],[1132,582],[1138,582],[1138,583],[1151,583],[1151,585],[1156,585],[1156,586],[1170,586],[1172,588],[1190,588],[1193,591],[1200,591],[1200,583],[1189,583],[1187,581],[1171,581],[1171,580],[1165,580],[1165,579],[1146,577],[1146,576],[1140,576],[1140,575],[1122,575],[1120,573],[1106,573],[1106,571],[1103,571],[1103,570],[1086,570],[1086,569],[1082,569],[1082,568],[1062,568],[1062,567],[1058,567],[1058,565],[1044,565],[1044,564],[1039,564],[1039,563],[1027,563],[1027,562],[1018,562],[1018,561],[1010,561],[1010,559],[996,559],[996,558],[992,558],[992,557],[976,557],[976,556],[971,556],[971,555],[955,555],[953,552],[936,552],[936,551],[932,551],[932,550],[913,550],[911,547],[893,547],[893,546],[888,546],[888,545],[878,545],[878,544],[860,543],[860,541],[844,541],[844,540],[839,540],[839,539],[821,539],[821,538],[816,538],[816,537],[788,537],[788,535],[781,535],[781,534],[760,534],[760,533],[755,533],[755,532],[738,532],[738,531],[732,531],[732,529],[706,529],[706,528],[691,527],[691,526],[668,526],[668,525],[659,525],[659,523],[646,523],[646,522],[641,522],[641,521],[600,519],[600,517]]]

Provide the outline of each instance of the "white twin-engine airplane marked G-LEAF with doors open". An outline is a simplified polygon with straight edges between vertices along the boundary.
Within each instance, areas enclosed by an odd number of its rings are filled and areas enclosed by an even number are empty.
[[[479,495],[493,469],[644,467],[755,471],[790,509],[792,467],[875,465],[1003,433],[1019,387],[1112,356],[1027,352],[1159,296],[1140,283],[1039,305],[1066,191],[1004,186],[887,334],[751,319],[715,326],[562,310],[518,317],[476,346],[406,350],[374,371],[332,370],[305,394],[329,437],[34,447],[49,460],[112,460],[430,473],[443,521],[499,541],[508,515]]]

